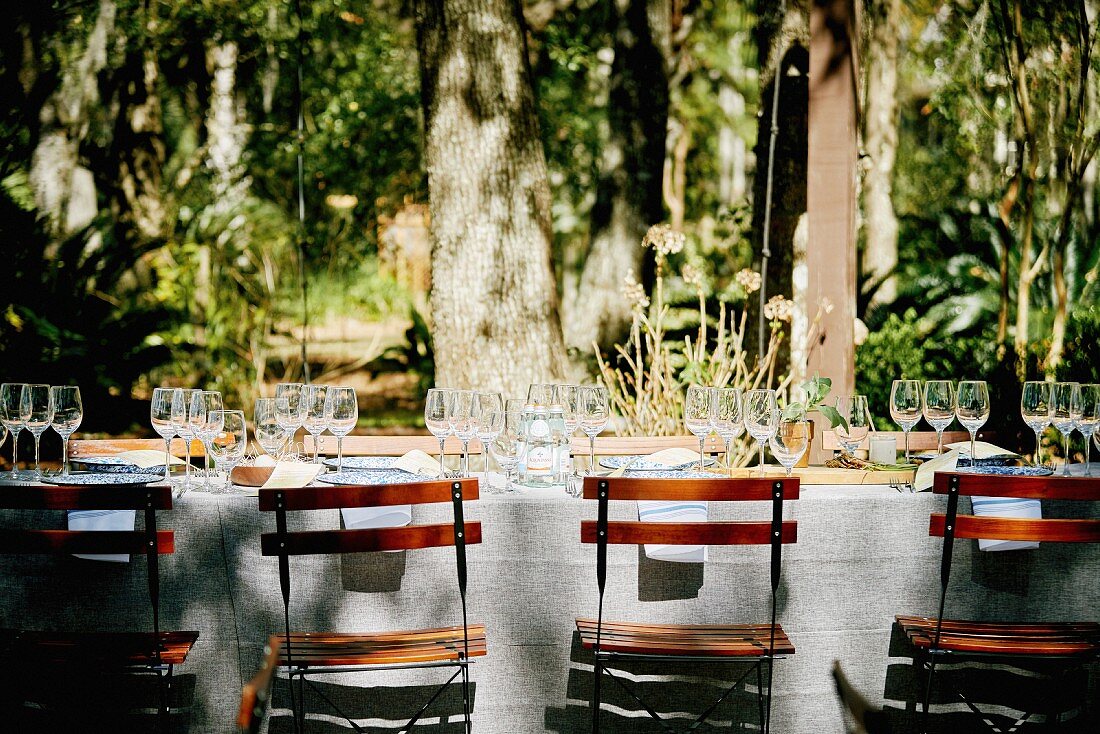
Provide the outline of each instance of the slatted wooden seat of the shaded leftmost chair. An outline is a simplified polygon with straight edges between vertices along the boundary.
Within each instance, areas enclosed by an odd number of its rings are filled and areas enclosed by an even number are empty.
[[[162,632],[161,661],[182,665],[198,639],[197,632]],[[32,632],[16,633],[12,659],[51,666],[127,668],[154,662],[153,633],[145,632]]]

